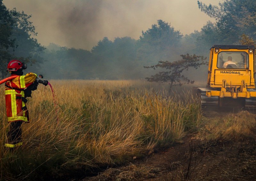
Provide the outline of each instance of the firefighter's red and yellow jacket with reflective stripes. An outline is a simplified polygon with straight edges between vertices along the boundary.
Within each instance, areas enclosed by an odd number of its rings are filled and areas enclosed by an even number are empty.
[[[8,122],[29,121],[26,104],[21,97],[25,97],[24,89],[36,80],[36,74],[29,73],[25,76],[18,76],[6,82],[5,86],[5,105]]]

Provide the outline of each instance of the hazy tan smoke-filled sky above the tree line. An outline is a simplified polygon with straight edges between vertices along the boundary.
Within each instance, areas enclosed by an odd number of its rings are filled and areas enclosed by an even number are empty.
[[[216,0],[201,0],[217,5]],[[221,0],[222,2],[223,0]],[[139,39],[141,31],[162,19],[175,30],[190,34],[200,31],[209,18],[197,0],[4,0],[8,9],[31,14],[36,39],[44,46],[90,50],[103,37],[129,36]]]

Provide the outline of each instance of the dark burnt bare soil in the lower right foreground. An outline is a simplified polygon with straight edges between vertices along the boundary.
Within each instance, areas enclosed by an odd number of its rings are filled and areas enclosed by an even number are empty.
[[[201,141],[195,134],[171,148],[82,180],[256,180],[256,137]]]

